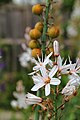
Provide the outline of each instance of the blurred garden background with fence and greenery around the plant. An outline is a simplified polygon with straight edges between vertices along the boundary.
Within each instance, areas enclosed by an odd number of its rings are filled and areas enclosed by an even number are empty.
[[[31,107],[15,110],[10,102],[15,99],[13,91],[18,80],[23,81],[26,93],[33,85],[28,76],[33,64],[22,67],[19,56],[23,52],[21,44],[26,43],[25,28],[34,27],[38,21],[38,17],[31,12],[32,5],[38,2],[41,0],[0,0],[0,120],[29,120],[29,116],[33,115]],[[57,1],[53,15],[61,29],[61,55],[64,59],[69,55],[75,62],[77,57],[80,58],[80,0]],[[63,76],[62,86],[66,81],[66,76]],[[80,120],[80,89],[78,95],[66,104],[64,119]]]

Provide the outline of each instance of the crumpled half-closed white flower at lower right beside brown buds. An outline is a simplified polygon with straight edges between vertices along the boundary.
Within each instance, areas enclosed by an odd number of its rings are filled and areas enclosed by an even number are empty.
[[[65,95],[65,96],[70,96],[74,93],[74,91],[76,90],[75,86],[71,85],[71,86],[68,86],[66,85],[63,90],[62,90],[62,94]]]

